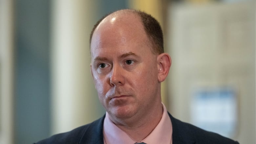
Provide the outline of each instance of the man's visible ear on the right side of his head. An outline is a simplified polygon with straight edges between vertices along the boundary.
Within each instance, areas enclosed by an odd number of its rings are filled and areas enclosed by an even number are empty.
[[[171,67],[171,57],[168,53],[161,53],[157,56],[158,63],[158,81],[163,82],[167,77]]]

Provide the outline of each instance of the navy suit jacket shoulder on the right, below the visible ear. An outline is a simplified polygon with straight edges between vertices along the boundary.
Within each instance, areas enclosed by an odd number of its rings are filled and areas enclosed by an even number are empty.
[[[238,144],[237,141],[224,137],[220,134],[208,132],[189,123],[182,122],[169,114],[173,125],[173,140],[179,142],[184,139],[197,144]],[[183,143],[183,142],[182,142]]]

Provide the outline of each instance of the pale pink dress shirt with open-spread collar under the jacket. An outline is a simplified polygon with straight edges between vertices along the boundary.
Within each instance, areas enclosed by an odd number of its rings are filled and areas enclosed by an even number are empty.
[[[106,113],[103,124],[104,144],[134,144],[144,142],[146,144],[172,144],[172,122],[163,105],[163,114],[160,122],[155,129],[143,140],[135,141],[124,131],[119,129],[109,118]]]

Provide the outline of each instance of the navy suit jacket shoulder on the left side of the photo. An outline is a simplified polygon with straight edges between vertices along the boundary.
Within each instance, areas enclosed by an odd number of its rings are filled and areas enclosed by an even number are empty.
[[[81,127],[75,128],[72,131],[55,134],[47,139],[43,139],[36,144],[78,144],[82,139],[93,137],[95,134],[100,134],[103,125],[104,117]]]

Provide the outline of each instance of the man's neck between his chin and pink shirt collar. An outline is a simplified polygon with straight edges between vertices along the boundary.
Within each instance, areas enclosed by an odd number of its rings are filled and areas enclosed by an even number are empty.
[[[128,134],[135,141],[140,141],[146,138],[158,125],[161,120],[163,108],[162,104],[155,107],[151,112],[143,115],[134,122],[115,123],[118,128]]]

